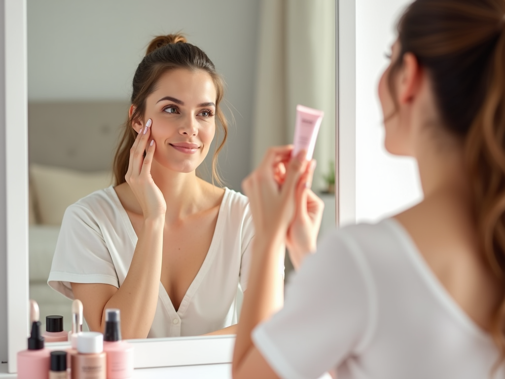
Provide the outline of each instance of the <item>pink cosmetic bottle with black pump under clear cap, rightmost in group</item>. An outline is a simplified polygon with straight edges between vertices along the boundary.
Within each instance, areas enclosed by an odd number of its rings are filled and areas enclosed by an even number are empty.
[[[104,351],[107,354],[107,379],[133,376],[133,346],[121,340],[119,309],[105,310]]]

